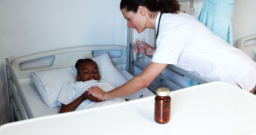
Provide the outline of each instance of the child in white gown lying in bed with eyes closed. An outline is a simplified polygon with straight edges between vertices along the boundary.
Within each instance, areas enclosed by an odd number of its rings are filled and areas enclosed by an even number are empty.
[[[88,93],[87,89],[92,86],[98,86],[105,92],[115,88],[107,80],[100,80],[98,65],[92,59],[79,59],[75,67],[77,69],[76,78],[78,82],[74,81],[62,86],[58,97],[58,101],[62,103],[60,113],[125,101],[124,98],[120,97],[102,102],[102,100]]]

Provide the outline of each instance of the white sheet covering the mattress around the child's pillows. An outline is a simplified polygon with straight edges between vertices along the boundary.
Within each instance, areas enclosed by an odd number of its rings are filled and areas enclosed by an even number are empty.
[[[124,77],[127,80],[130,80],[133,76],[127,72],[126,70],[121,70],[120,73],[124,75]],[[31,111],[34,115],[34,117],[40,117],[40,116],[46,116],[46,115],[53,115],[57,114],[59,112],[60,107],[54,107],[52,109],[49,109],[48,106],[46,106],[38,93],[35,85],[21,85],[24,95],[26,96],[26,99],[28,100],[28,104],[31,108]],[[148,94],[148,95],[147,95]],[[152,96],[154,93],[150,92],[149,89],[144,88],[132,95],[126,96],[127,99],[134,100],[138,99],[140,95]]]

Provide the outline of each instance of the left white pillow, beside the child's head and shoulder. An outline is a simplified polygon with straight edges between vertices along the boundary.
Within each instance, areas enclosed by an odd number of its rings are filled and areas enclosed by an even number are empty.
[[[76,73],[77,70],[74,66],[33,71],[32,79],[44,103],[49,108],[53,108],[61,105],[58,101],[58,95],[62,85],[70,81],[76,81]]]

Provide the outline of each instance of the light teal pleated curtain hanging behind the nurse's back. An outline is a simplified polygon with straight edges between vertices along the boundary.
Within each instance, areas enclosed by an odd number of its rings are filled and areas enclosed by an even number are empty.
[[[233,45],[232,18],[236,0],[204,0],[198,20],[216,35]]]

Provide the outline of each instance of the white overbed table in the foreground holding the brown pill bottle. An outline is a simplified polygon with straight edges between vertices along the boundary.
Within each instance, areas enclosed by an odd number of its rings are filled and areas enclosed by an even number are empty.
[[[0,126],[0,135],[255,135],[256,95],[212,82],[170,92],[171,119],[154,121],[154,96]]]

